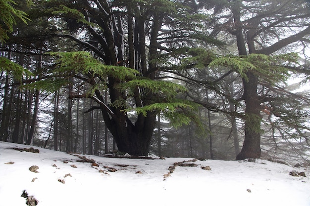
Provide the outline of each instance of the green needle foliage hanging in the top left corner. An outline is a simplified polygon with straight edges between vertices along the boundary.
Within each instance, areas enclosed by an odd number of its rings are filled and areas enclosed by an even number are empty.
[[[27,3],[30,4],[30,0]],[[0,41],[5,42],[8,39],[7,34],[13,31],[13,25],[16,24],[15,18],[22,20],[25,24],[30,20],[27,14],[21,10],[15,9],[16,3],[13,0],[0,0]]]

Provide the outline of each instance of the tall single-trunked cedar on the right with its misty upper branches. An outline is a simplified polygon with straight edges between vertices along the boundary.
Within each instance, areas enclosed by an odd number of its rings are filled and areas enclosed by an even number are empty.
[[[222,8],[228,8],[230,15],[222,16],[219,5]],[[273,86],[279,87],[280,84],[277,82],[283,81],[283,77],[287,74],[285,70],[275,65],[288,67],[290,64],[287,62],[294,65],[297,58],[283,55],[276,62],[270,60],[273,57],[267,58],[254,54],[274,55],[285,53],[285,49],[289,49],[291,45],[307,45],[306,39],[310,34],[309,3],[304,0],[220,1],[214,7],[214,15],[222,22],[214,27],[212,33],[215,35],[223,31],[234,36],[240,55],[238,61],[229,63],[229,57],[225,57],[219,60],[220,63],[213,63],[233,69],[241,75],[243,80],[243,96],[238,101],[245,103],[245,140],[237,159],[259,158],[261,155],[260,113],[262,107],[268,105],[272,108],[270,112],[273,115],[284,118],[276,114],[276,110],[280,107],[272,103],[273,100],[277,100],[274,96],[276,94],[272,92],[279,92]],[[298,42],[301,44],[297,44]],[[246,57],[247,55],[249,56]],[[254,57],[252,60],[250,60],[251,56]],[[251,64],[245,65],[244,61]],[[286,96],[289,94],[285,90],[282,92]],[[297,98],[297,96],[291,96],[291,98]],[[301,99],[305,103],[305,99]],[[285,118],[288,116],[285,115]]]

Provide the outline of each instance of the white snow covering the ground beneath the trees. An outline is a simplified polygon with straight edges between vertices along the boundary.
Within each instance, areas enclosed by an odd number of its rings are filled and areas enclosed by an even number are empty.
[[[169,166],[193,159],[85,155],[99,165],[92,166],[64,152],[12,149],[30,147],[0,142],[0,206],[25,206],[24,190],[38,206],[310,206],[309,168],[265,160],[206,160],[191,162],[198,166],[176,166],[164,178]],[[38,173],[28,169],[32,165],[39,166]],[[304,171],[307,177],[291,176],[290,171]]]

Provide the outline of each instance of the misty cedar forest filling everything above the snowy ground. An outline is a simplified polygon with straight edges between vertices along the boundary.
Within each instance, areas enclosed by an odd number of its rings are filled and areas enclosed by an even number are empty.
[[[0,141],[310,164],[309,0],[0,8]]]

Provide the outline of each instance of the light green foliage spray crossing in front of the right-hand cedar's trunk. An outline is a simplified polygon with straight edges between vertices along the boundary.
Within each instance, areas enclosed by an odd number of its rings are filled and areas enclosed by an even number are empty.
[[[234,70],[240,76],[248,80],[247,72],[251,71],[260,81],[269,84],[284,82],[289,78],[289,63],[296,63],[295,53],[285,55],[267,56],[264,54],[249,54],[247,56],[225,56],[214,59],[209,66],[223,66]]]

